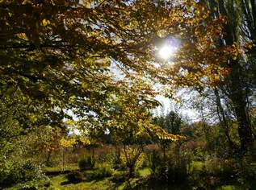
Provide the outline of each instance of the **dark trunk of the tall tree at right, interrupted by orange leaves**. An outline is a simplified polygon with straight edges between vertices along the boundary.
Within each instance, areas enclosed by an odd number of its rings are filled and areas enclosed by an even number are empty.
[[[230,10],[227,10],[223,0],[218,0],[215,3],[212,3],[213,1],[208,2],[210,9],[214,13],[212,16],[218,17],[222,14],[228,17],[228,23],[225,24],[224,27],[225,35],[220,42],[220,46],[225,46],[225,44],[231,46],[239,42],[238,19],[235,18],[235,15],[233,15],[234,18],[229,18],[229,11],[235,12],[235,6],[229,7]],[[246,152],[253,141],[253,137],[247,111],[246,81],[239,59],[239,57],[236,59],[230,57],[227,61],[225,67],[230,68],[231,72],[229,76],[226,77],[225,84],[227,84],[227,96],[229,97],[233,112],[237,118],[241,152]]]

